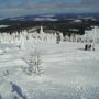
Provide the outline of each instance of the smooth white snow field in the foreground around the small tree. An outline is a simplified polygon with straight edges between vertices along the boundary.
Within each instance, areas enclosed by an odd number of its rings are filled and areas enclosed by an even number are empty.
[[[24,48],[0,44],[0,99],[99,99],[99,44],[28,42]],[[42,75],[26,75],[30,47],[42,54]],[[9,75],[6,72],[9,70]]]

